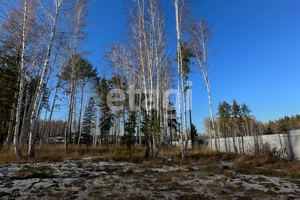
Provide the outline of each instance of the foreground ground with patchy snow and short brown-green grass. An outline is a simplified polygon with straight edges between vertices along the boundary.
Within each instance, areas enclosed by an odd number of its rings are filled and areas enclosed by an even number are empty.
[[[0,199],[300,200],[300,180],[239,174],[224,162],[208,170],[83,157],[0,166]]]

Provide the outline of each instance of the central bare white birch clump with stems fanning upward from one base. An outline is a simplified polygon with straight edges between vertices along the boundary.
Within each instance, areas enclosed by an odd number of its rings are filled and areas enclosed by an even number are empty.
[[[141,70],[143,92],[146,97],[145,107],[149,115],[149,130],[151,132],[152,115],[154,109],[154,81],[155,70],[159,68],[157,56],[160,53],[159,34],[164,28],[158,23],[163,23],[163,11],[156,0],[133,0],[128,1],[128,20],[125,34],[128,44],[136,55],[139,69]],[[153,138],[154,141],[154,138]],[[149,158],[151,135],[148,135],[145,159]],[[153,145],[155,151],[155,146]]]

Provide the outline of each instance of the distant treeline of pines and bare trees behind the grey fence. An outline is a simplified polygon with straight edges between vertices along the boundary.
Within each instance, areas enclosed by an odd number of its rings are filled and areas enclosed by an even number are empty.
[[[287,133],[288,130],[300,129],[300,115],[298,114],[263,123],[250,114],[251,110],[248,105],[245,103],[239,105],[235,99],[231,105],[225,101],[220,102],[217,110],[216,115],[218,117],[215,124],[219,138],[283,134]],[[206,137],[213,138],[210,118],[204,119],[204,126],[207,133]]]

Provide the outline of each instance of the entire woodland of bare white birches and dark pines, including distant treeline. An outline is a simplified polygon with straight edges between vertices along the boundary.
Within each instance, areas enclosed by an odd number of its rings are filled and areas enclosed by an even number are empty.
[[[176,58],[169,55],[160,2],[126,0],[124,40],[105,45],[99,58],[102,77],[84,49],[90,3],[0,0],[0,144],[12,143],[18,157],[34,158],[35,146],[43,147],[47,137],[57,134],[65,138],[66,150],[80,145],[79,138],[87,146],[123,143],[129,149],[135,140],[145,145],[148,159],[159,145],[189,138],[193,143],[197,129],[189,73],[206,83],[211,117],[205,124],[216,149],[217,137],[265,133],[244,104],[238,111],[236,105],[220,103],[219,117],[214,118],[209,73],[218,50],[209,51],[212,24],[192,11],[197,0],[169,4],[175,14]],[[54,112],[62,112],[66,120],[53,120]],[[291,123],[283,129],[280,120],[269,124],[269,133],[279,133]],[[22,155],[19,146],[28,146],[28,154]],[[187,143],[181,143],[181,155],[187,158]]]

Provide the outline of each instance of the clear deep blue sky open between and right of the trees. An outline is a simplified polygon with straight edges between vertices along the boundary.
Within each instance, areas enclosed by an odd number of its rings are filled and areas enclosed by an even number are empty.
[[[169,46],[175,57],[174,5],[161,0],[168,15]],[[87,29],[92,50],[88,59],[98,67],[103,45],[123,40],[123,0],[99,0],[89,5],[93,24]],[[212,110],[219,102],[246,103],[263,123],[285,115],[300,114],[300,1],[299,0],[202,0],[192,4],[194,12],[215,28],[211,49],[218,48],[210,73]],[[176,63],[174,63],[176,65]],[[205,132],[203,120],[210,117],[205,81],[192,82],[192,122]],[[178,100],[176,101],[178,103]],[[187,116],[189,118],[189,116]]]

